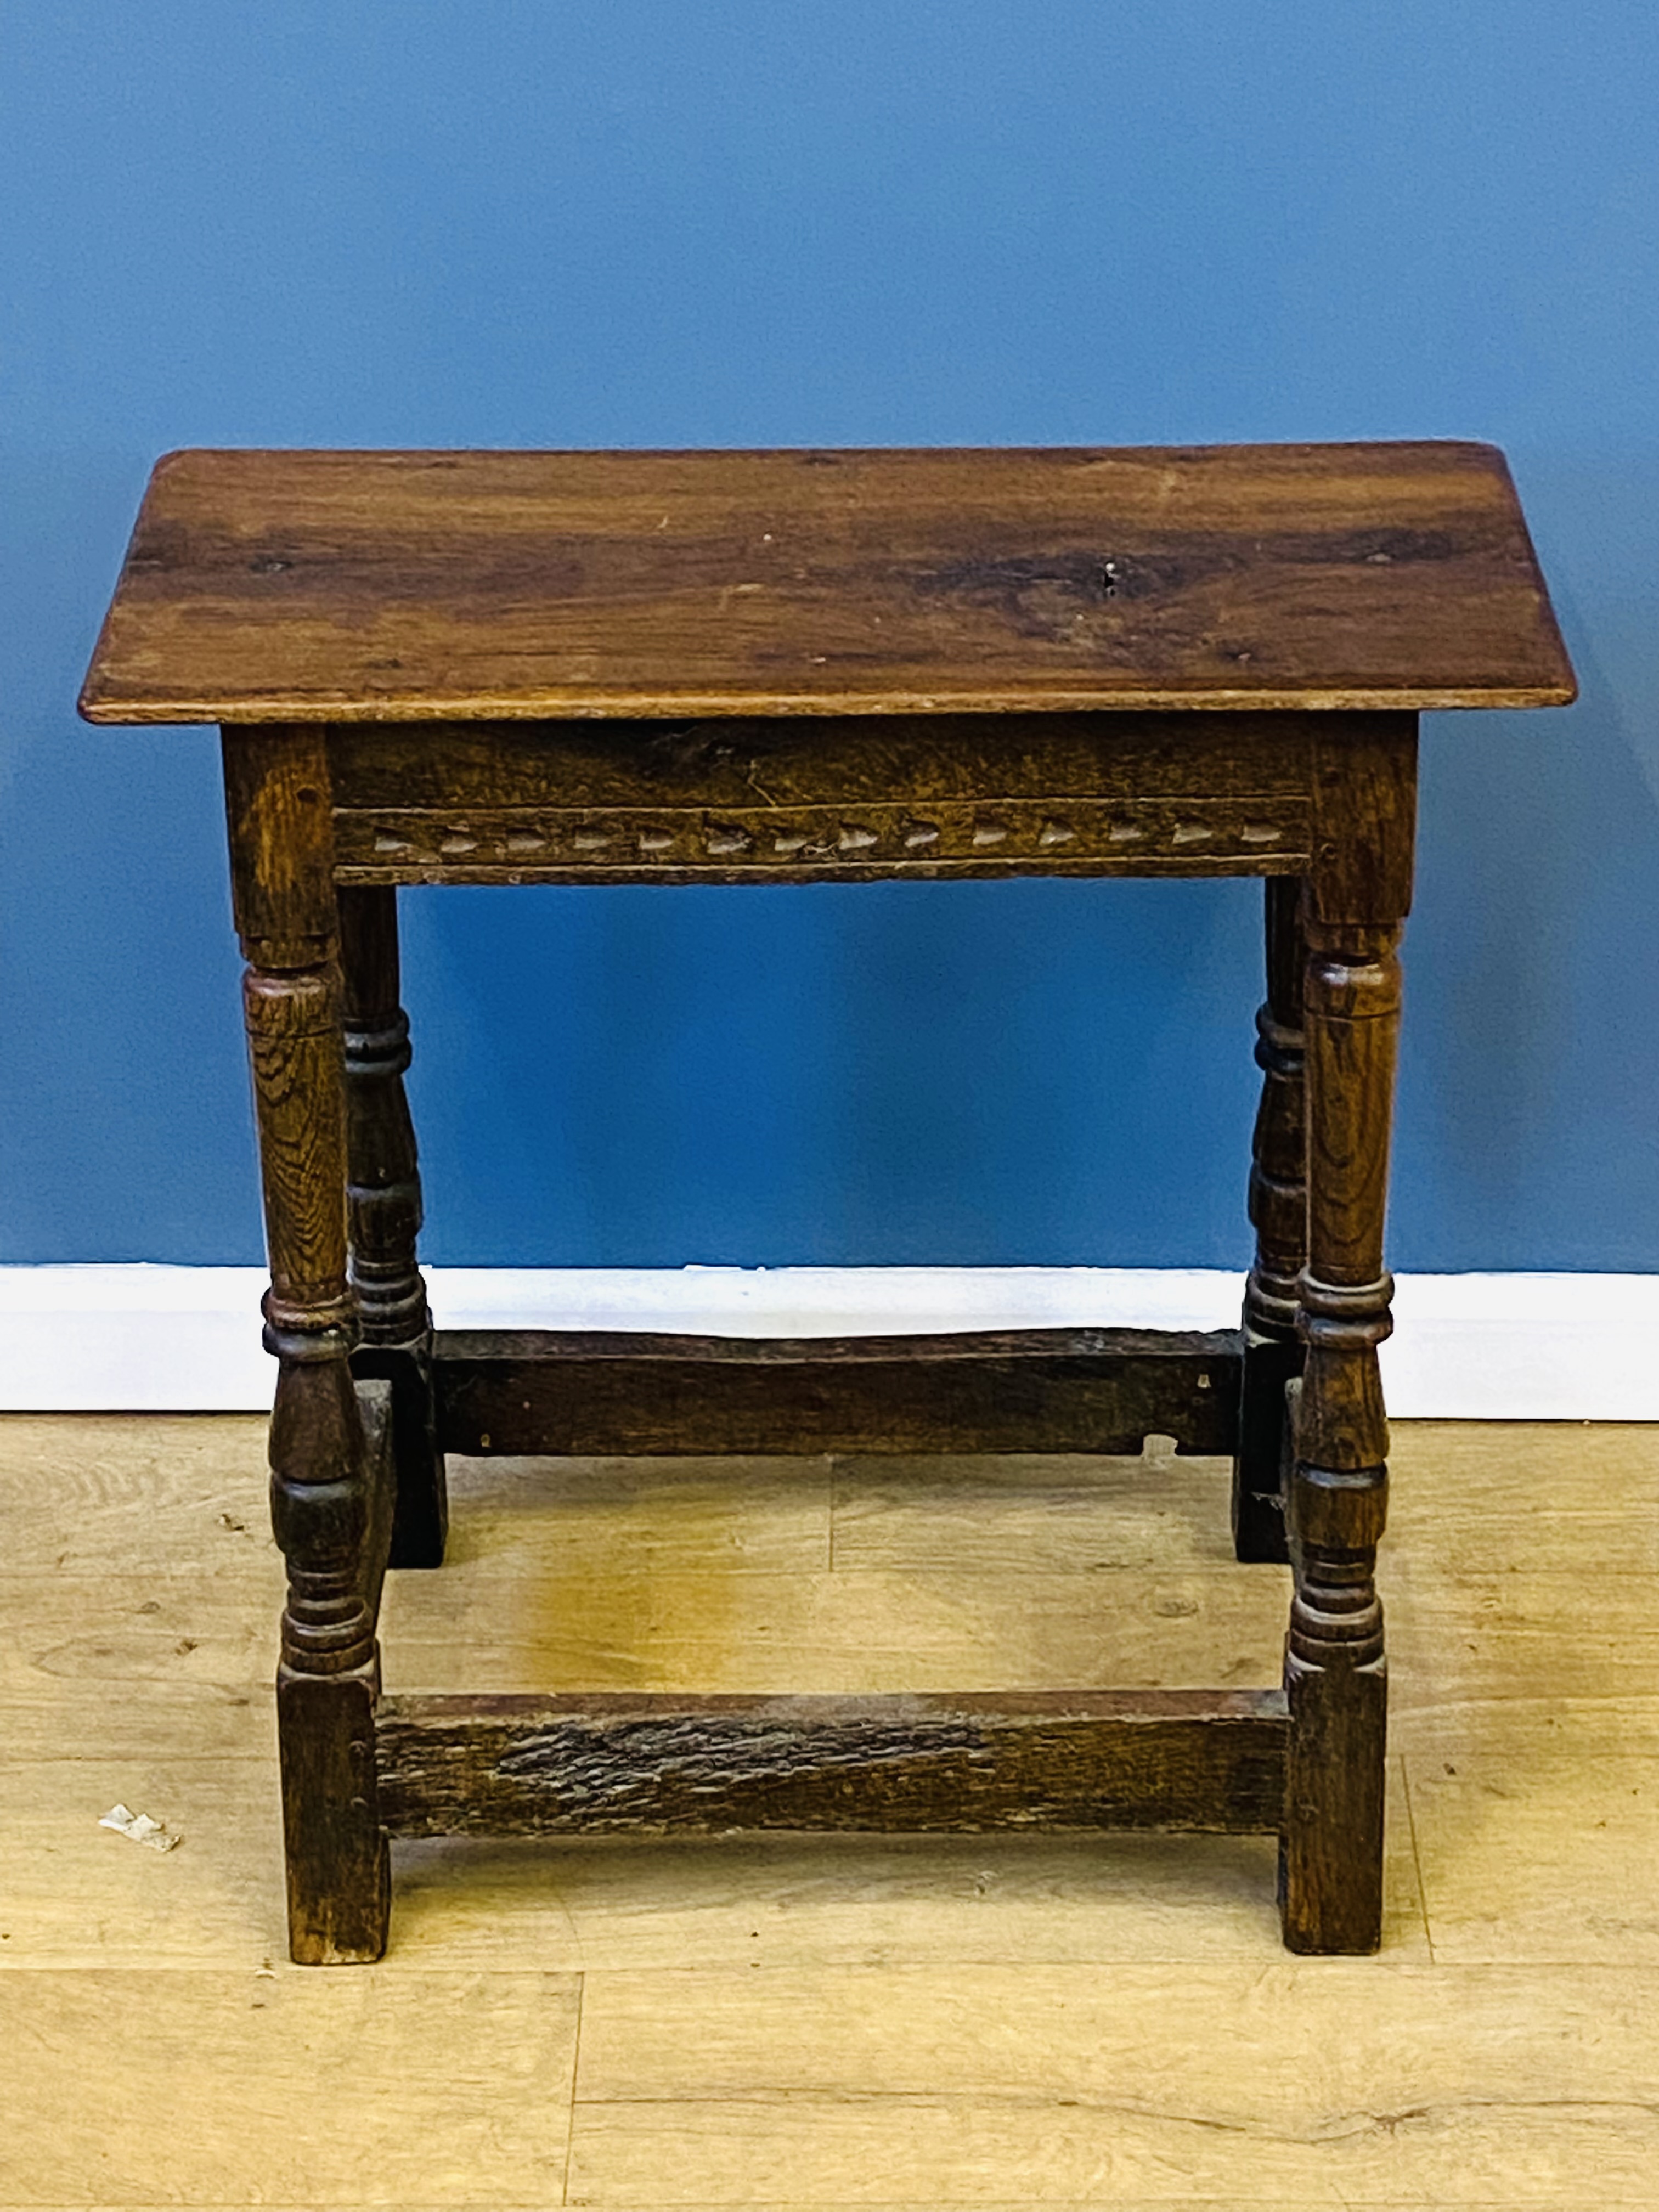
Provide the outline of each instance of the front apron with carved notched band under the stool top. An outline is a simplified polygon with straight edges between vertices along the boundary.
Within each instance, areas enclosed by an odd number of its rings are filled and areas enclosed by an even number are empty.
[[[1312,730],[1310,714],[347,726],[336,867],[345,883],[1305,874]]]

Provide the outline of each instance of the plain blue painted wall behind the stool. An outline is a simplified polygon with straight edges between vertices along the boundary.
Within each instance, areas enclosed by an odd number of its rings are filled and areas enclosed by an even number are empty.
[[[1648,0],[11,0],[0,1256],[259,1252],[217,748],[73,697],[175,445],[1502,442],[1394,1256],[1659,1267]],[[1243,1263],[1248,885],[405,894],[429,1256]]]

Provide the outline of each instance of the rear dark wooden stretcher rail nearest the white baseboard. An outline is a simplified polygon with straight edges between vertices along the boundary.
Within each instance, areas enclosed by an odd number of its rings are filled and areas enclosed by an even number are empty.
[[[462,1453],[1232,1453],[1239,1374],[1232,1329],[436,1340],[438,1431]]]

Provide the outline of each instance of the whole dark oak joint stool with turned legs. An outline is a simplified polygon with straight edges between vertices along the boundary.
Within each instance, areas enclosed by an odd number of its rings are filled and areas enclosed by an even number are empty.
[[[288,1562],[292,1953],[374,1960],[387,1836],[1281,1836],[1285,1942],[1383,1911],[1378,1343],[1425,708],[1573,699],[1480,445],[161,460],[82,695],[219,723]],[[1259,876],[1256,1259],[1221,1334],[434,1332],[398,885]],[[387,1697],[445,1453],[1234,1462],[1281,1690]]]

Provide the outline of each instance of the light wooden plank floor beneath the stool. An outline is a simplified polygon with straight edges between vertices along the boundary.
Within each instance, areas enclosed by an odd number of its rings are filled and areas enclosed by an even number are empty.
[[[263,1427],[0,1422],[0,2208],[1659,2201],[1659,1429],[1396,1429],[1389,1905],[1256,1838],[427,1843],[283,1958]],[[1225,1467],[458,1462],[387,1683],[1270,1683]],[[115,1801],[184,1836],[157,1854]]]

